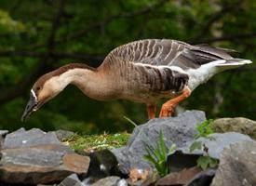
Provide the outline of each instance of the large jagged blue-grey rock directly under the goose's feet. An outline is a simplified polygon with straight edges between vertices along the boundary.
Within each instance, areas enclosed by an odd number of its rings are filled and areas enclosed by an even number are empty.
[[[159,132],[162,131],[168,147],[173,143],[182,147],[186,142],[194,139],[197,133],[195,126],[205,120],[204,112],[186,111],[177,117],[153,119],[144,125],[137,126],[126,147],[112,150],[117,158],[119,169],[123,174],[128,174],[128,170],[134,167],[150,168],[151,166],[142,158],[146,153],[143,142],[155,146]]]

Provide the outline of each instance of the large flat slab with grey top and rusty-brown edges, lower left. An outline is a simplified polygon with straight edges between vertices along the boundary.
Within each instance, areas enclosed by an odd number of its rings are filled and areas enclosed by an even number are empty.
[[[89,158],[61,144],[2,150],[0,180],[8,183],[47,184],[76,173],[85,175]]]

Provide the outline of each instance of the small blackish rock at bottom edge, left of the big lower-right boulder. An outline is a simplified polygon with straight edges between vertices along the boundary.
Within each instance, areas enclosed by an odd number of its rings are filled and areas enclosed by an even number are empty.
[[[190,179],[184,186],[209,186],[216,170],[208,169],[195,175],[193,179]]]

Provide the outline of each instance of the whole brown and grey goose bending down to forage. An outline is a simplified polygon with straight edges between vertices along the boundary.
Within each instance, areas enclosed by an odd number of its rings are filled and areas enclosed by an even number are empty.
[[[251,63],[234,59],[229,54],[233,51],[168,39],[146,39],[118,46],[96,69],[71,63],[40,77],[21,120],[69,84],[92,99],[145,103],[149,118],[155,117],[156,102],[168,99],[159,116],[169,116],[175,105],[214,74]]]

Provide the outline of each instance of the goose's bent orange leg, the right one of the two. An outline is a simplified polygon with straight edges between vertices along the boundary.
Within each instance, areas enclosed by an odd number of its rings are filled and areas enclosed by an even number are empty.
[[[159,117],[169,117],[173,113],[173,109],[179,102],[187,99],[191,94],[191,90],[189,88],[185,88],[182,94],[174,99],[168,100],[162,105],[161,112]]]

